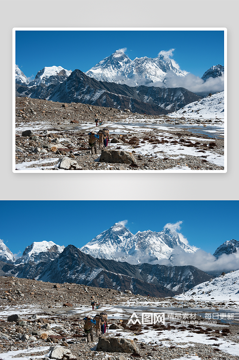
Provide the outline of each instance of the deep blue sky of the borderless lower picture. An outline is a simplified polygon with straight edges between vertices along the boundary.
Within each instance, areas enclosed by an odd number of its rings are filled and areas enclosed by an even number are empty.
[[[42,240],[82,247],[119,221],[133,234],[182,221],[189,244],[213,254],[239,240],[238,210],[238,201],[1,201],[0,239],[17,254]]]

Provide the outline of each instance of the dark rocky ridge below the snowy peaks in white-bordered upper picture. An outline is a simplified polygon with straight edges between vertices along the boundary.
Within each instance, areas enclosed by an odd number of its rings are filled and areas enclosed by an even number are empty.
[[[80,102],[95,106],[130,109],[139,114],[162,115],[175,111],[199,99],[191,91],[179,88],[154,86],[127,86],[114,82],[95,80],[76,69],[62,83],[32,86],[16,86],[16,96],[29,96],[35,99],[57,102]]]

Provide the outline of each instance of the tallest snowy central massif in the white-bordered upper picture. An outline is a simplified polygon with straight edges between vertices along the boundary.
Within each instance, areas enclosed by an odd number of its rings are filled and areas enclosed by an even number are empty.
[[[172,65],[170,59],[163,55],[156,58],[145,56],[131,60],[125,53],[117,50],[86,71],[86,75],[98,81],[137,86],[151,82],[163,82],[168,72],[173,72],[177,76],[185,76]]]

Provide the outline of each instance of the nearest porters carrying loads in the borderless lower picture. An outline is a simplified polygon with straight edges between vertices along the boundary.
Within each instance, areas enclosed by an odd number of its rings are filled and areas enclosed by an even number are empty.
[[[90,339],[94,341],[93,327],[95,327],[96,336],[105,334],[106,329],[108,329],[107,318],[108,315],[105,312],[96,314],[94,318],[90,314],[86,315],[83,320],[85,320],[84,332],[86,333],[87,342],[90,342]]]

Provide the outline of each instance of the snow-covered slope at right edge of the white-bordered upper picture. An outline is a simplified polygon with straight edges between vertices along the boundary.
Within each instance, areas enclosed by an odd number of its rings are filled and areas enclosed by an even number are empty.
[[[224,91],[185,105],[168,116],[224,121]]]

